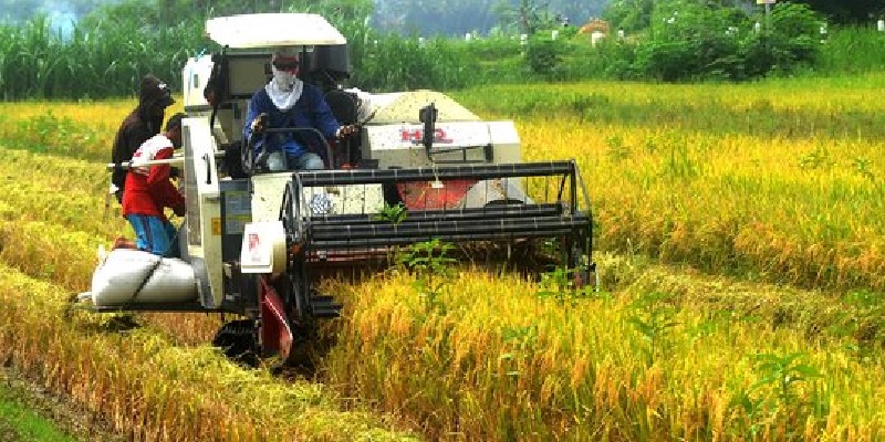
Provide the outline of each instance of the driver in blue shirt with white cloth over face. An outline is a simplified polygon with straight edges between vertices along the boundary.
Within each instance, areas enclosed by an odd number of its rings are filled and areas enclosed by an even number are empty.
[[[316,86],[298,78],[299,67],[299,55],[292,49],[274,52],[271,59],[273,78],[256,92],[249,103],[244,140],[253,133],[260,136],[266,127],[315,128],[325,138],[341,138],[356,131],[354,126],[339,124]],[[305,145],[325,146],[324,140],[317,138],[316,133],[306,130],[268,133],[263,139],[256,140],[256,154],[263,147],[269,152],[267,166],[270,171],[323,169],[323,159]]]

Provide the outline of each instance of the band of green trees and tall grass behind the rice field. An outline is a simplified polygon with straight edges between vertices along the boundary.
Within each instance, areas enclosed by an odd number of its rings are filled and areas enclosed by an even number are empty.
[[[584,78],[743,81],[883,65],[881,33],[827,28],[825,17],[803,3],[781,2],[766,15],[743,0],[616,0],[602,12],[610,35],[597,44],[545,3],[501,8],[496,32],[420,39],[373,25],[372,0],[122,0],[97,8],[67,33],[46,15],[1,25],[0,91],[7,101],[124,96],[146,73],[180,87],[188,56],[219,50],[204,35],[206,18],[270,11],[326,17],[348,39],[350,83],[369,91]],[[868,53],[857,52],[857,39],[868,42]]]

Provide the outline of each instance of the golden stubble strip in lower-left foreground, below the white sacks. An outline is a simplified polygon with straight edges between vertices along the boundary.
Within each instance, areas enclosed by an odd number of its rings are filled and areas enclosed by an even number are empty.
[[[0,359],[131,440],[413,440],[378,418],[339,411],[321,385],[242,370],[149,328],[113,332],[108,317],[69,311],[66,293],[2,266]]]

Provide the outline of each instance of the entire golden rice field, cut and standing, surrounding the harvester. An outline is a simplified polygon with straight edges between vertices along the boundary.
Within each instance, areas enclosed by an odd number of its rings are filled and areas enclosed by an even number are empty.
[[[101,164],[135,103],[0,104],[0,359],[133,440],[881,440],[884,80],[454,94],[577,160],[603,291],[327,281],[336,344],[299,380],[223,360],[214,317],[67,311],[128,234]]]

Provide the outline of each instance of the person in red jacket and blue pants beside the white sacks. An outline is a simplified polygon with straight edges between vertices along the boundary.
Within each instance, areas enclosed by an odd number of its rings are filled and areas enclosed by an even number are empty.
[[[185,214],[185,197],[169,178],[169,165],[138,166],[139,162],[168,159],[181,146],[181,119],[185,114],[169,117],[166,130],[155,135],[133,155],[123,192],[123,215],[137,236],[139,250],[162,256],[179,256],[177,229],[164,213],[171,208],[179,217]]]

